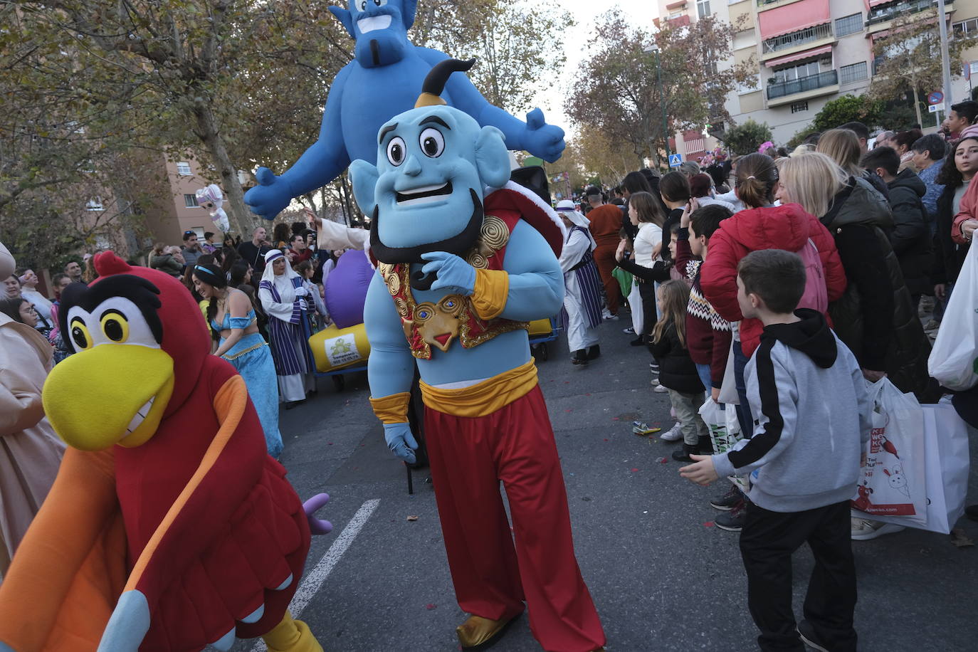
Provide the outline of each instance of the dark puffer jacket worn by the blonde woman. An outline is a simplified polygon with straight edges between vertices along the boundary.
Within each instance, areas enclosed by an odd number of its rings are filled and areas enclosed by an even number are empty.
[[[828,307],[839,339],[864,369],[886,371],[893,384],[920,401],[936,400],[936,383],[927,373],[930,340],[887,236],[893,215],[886,198],[867,181],[850,177],[821,219],[849,280]]]

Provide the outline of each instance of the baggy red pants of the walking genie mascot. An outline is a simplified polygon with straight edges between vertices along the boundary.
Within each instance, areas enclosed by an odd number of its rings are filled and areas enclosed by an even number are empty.
[[[500,620],[525,599],[548,652],[604,644],[581,578],[554,431],[539,386],[486,416],[424,411],[431,479],[459,606]],[[512,531],[499,483],[510,500]]]

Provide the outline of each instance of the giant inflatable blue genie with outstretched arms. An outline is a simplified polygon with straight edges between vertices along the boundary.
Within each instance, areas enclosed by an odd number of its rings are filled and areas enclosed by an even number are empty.
[[[418,0],[353,0],[349,10],[330,7],[356,40],[355,58],[333,80],[319,140],[281,176],[258,168],[258,185],[244,196],[252,211],[271,220],[292,197],[328,184],[350,161],[377,162],[380,126],[414,108],[427,73],[448,59],[408,41],[417,7]],[[523,122],[489,104],[465,75],[453,75],[441,97],[480,126],[498,128],[511,150],[526,150],[549,161],[563,152],[563,130],[546,124],[543,111],[533,109]]]

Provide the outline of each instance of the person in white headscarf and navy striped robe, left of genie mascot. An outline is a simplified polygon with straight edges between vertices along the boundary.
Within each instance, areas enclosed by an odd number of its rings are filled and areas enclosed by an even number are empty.
[[[266,253],[258,298],[268,315],[272,360],[286,410],[303,403],[306,393],[316,389],[309,367],[309,345],[302,328],[303,313],[309,310],[308,297],[309,290],[289,267],[285,254],[279,249]]]

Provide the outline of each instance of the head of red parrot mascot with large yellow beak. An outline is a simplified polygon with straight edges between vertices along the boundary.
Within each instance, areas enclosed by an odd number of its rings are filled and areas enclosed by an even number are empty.
[[[62,294],[58,317],[74,355],[48,376],[44,410],[73,448],[141,446],[190,395],[210,338],[176,279],[111,251],[96,254],[95,269],[95,282]]]

